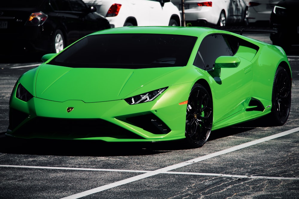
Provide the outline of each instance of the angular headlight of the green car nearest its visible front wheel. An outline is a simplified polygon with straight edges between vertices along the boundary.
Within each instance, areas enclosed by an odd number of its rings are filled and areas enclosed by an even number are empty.
[[[125,101],[128,104],[140,104],[140,103],[152,101],[156,97],[158,97],[158,95],[160,95],[166,89],[167,89],[167,87],[160,88],[160,89],[157,89],[157,90],[153,90],[153,91],[150,91],[150,92],[146,92],[146,93],[143,93],[141,95],[136,95],[136,96],[133,96],[133,97],[130,97],[130,98],[126,98]]]

